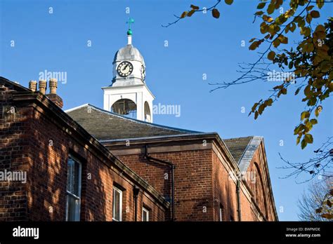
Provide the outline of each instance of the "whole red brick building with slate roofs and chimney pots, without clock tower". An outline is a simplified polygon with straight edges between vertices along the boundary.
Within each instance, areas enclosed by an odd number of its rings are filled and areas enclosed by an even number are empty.
[[[44,82],[0,78],[0,221],[278,220],[262,137],[65,112]]]

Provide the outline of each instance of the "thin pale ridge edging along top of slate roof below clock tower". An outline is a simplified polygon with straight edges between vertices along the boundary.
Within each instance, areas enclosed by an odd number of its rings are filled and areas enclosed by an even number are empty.
[[[183,133],[202,133],[200,131],[195,131],[195,130],[185,130],[185,129],[174,128],[174,127],[170,127],[170,126],[162,126],[162,125],[159,125],[157,123],[149,123],[149,122],[145,122],[145,121],[140,121],[140,120],[138,120],[136,118],[129,118],[129,117],[126,117],[126,116],[122,116],[120,114],[115,114],[115,113],[113,113],[111,111],[107,111],[105,109],[101,109],[101,108],[96,107],[95,105],[92,105],[92,104],[89,104],[89,103],[82,104],[82,105],[80,105],[78,107],[74,107],[72,109],[67,109],[67,110],[65,110],[65,112],[67,113],[67,112],[74,111],[74,110],[77,110],[77,109],[81,109],[82,107],[88,107],[88,106],[90,106],[93,109],[96,109],[98,111],[101,111],[101,112],[103,112],[105,114],[110,114],[112,116],[117,116],[118,118],[124,118],[124,119],[126,119],[128,121],[133,121],[135,123],[141,123],[141,124],[146,125],[146,126],[152,126],[152,127],[163,128],[163,129],[168,129],[168,130],[174,130],[174,131],[183,132]]]

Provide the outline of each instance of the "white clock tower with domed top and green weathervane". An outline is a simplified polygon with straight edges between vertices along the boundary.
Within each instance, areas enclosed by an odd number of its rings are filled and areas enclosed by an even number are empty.
[[[130,18],[127,45],[115,54],[112,84],[102,88],[104,109],[152,123],[152,101],[155,97],[145,84],[145,61],[132,45],[133,22]]]

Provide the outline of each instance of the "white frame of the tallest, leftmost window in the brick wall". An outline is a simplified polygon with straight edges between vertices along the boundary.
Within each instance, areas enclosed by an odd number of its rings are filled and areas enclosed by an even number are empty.
[[[73,194],[72,192],[68,191],[67,189],[67,180],[66,180],[66,212],[65,212],[65,215],[66,215],[66,222],[68,221],[73,221],[73,222],[79,222],[80,221],[80,217],[81,217],[81,183],[82,183],[82,163],[81,161],[79,161],[77,158],[75,158],[74,156],[72,156],[71,154],[68,156],[67,158],[67,167],[68,167],[68,162],[72,160],[74,161],[74,165],[75,163],[78,163],[79,164],[79,174],[78,174],[78,185],[79,185],[79,188],[78,188],[78,191],[79,191],[79,196]],[[67,179],[68,179],[68,168],[67,168]],[[74,199],[76,200],[79,200],[79,210],[75,210],[75,219],[74,220],[68,220],[68,208],[69,208],[69,196],[70,197],[73,197]]]

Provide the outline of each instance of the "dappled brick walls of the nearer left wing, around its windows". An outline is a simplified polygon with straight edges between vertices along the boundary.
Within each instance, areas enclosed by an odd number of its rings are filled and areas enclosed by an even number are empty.
[[[81,221],[112,220],[113,184],[124,190],[122,219],[133,221],[133,187],[138,182],[57,121],[47,107],[14,102],[8,88],[1,89],[0,112],[15,107],[15,118],[13,121],[6,116],[0,118],[0,171],[25,170],[27,183],[0,182],[0,221],[64,221],[70,154],[82,165]],[[150,220],[164,220],[165,207],[141,187],[139,221],[143,204],[151,210]]]

